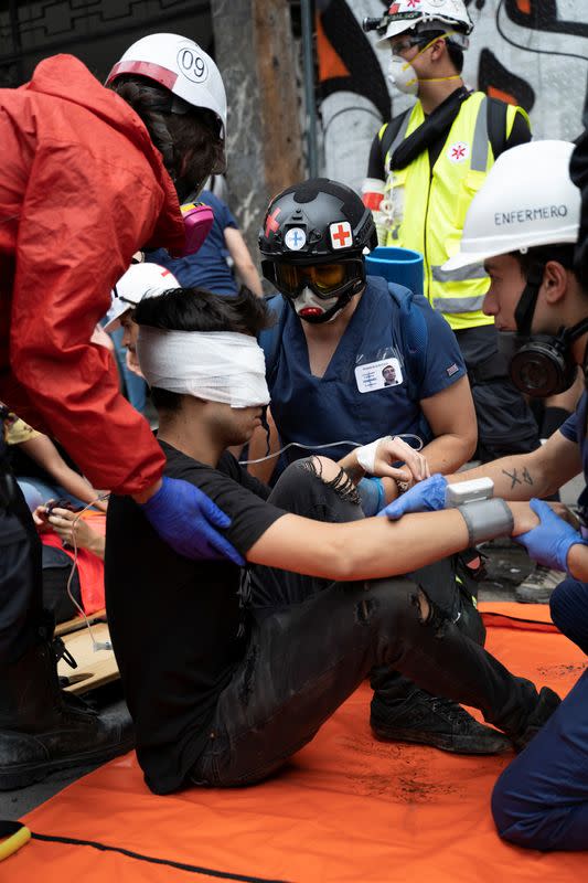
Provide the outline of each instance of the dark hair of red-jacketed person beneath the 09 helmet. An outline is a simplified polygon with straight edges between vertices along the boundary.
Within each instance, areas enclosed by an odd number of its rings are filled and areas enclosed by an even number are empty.
[[[171,93],[132,74],[117,77],[110,88],[142,119],[174,182],[195,183],[224,171],[224,141],[212,110],[186,105],[186,114],[172,114]]]

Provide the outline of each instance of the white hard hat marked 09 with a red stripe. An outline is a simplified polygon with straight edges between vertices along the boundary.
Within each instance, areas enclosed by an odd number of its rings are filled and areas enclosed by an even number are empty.
[[[153,79],[193,107],[212,110],[225,131],[226,94],[221,72],[193,40],[179,34],[143,36],[115,64],[106,85],[121,74]]]

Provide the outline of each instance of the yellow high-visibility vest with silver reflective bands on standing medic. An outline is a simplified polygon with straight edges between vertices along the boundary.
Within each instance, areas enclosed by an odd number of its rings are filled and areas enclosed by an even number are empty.
[[[524,114],[524,110],[507,106],[506,138],[516,113]],[[425,295],[455,331],[494,321],[482,312],[490,285],[482,265],[449,273],[441,269],[447,258],[459,251],[470,202],[494,163],[487,116],[485,95],[472,93],[462,103],[432,171],[429,151],[424,150],[405,169],[391,172],[394,150],[425,121],[423,106],[417,102],[406,115],[385,158],[384,199],[392,202],[394,216],[386,245],[414,248],[423,254]],[[381,128],[379,140],[386,127],[387,124]]]

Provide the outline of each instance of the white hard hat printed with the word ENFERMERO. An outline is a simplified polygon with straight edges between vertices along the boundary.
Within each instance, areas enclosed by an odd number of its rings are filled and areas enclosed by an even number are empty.
[[[442,269],[538,245],[575,243],[580,191],[569,177],[574,145],[532,141],[502,153],[468,210],[460,252]]]

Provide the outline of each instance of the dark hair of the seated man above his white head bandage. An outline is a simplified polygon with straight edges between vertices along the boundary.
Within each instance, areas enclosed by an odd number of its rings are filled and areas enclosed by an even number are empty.
[[[242,286],[236,297],[225,297],[203,288],[173,288],[158,297],[143,298],[135,309],[137,325],[168,331],[233,331],[257,334],[274,323],[264,298]],[[151,389],[153,404],[161,411],[178,411],[179,393]]]

